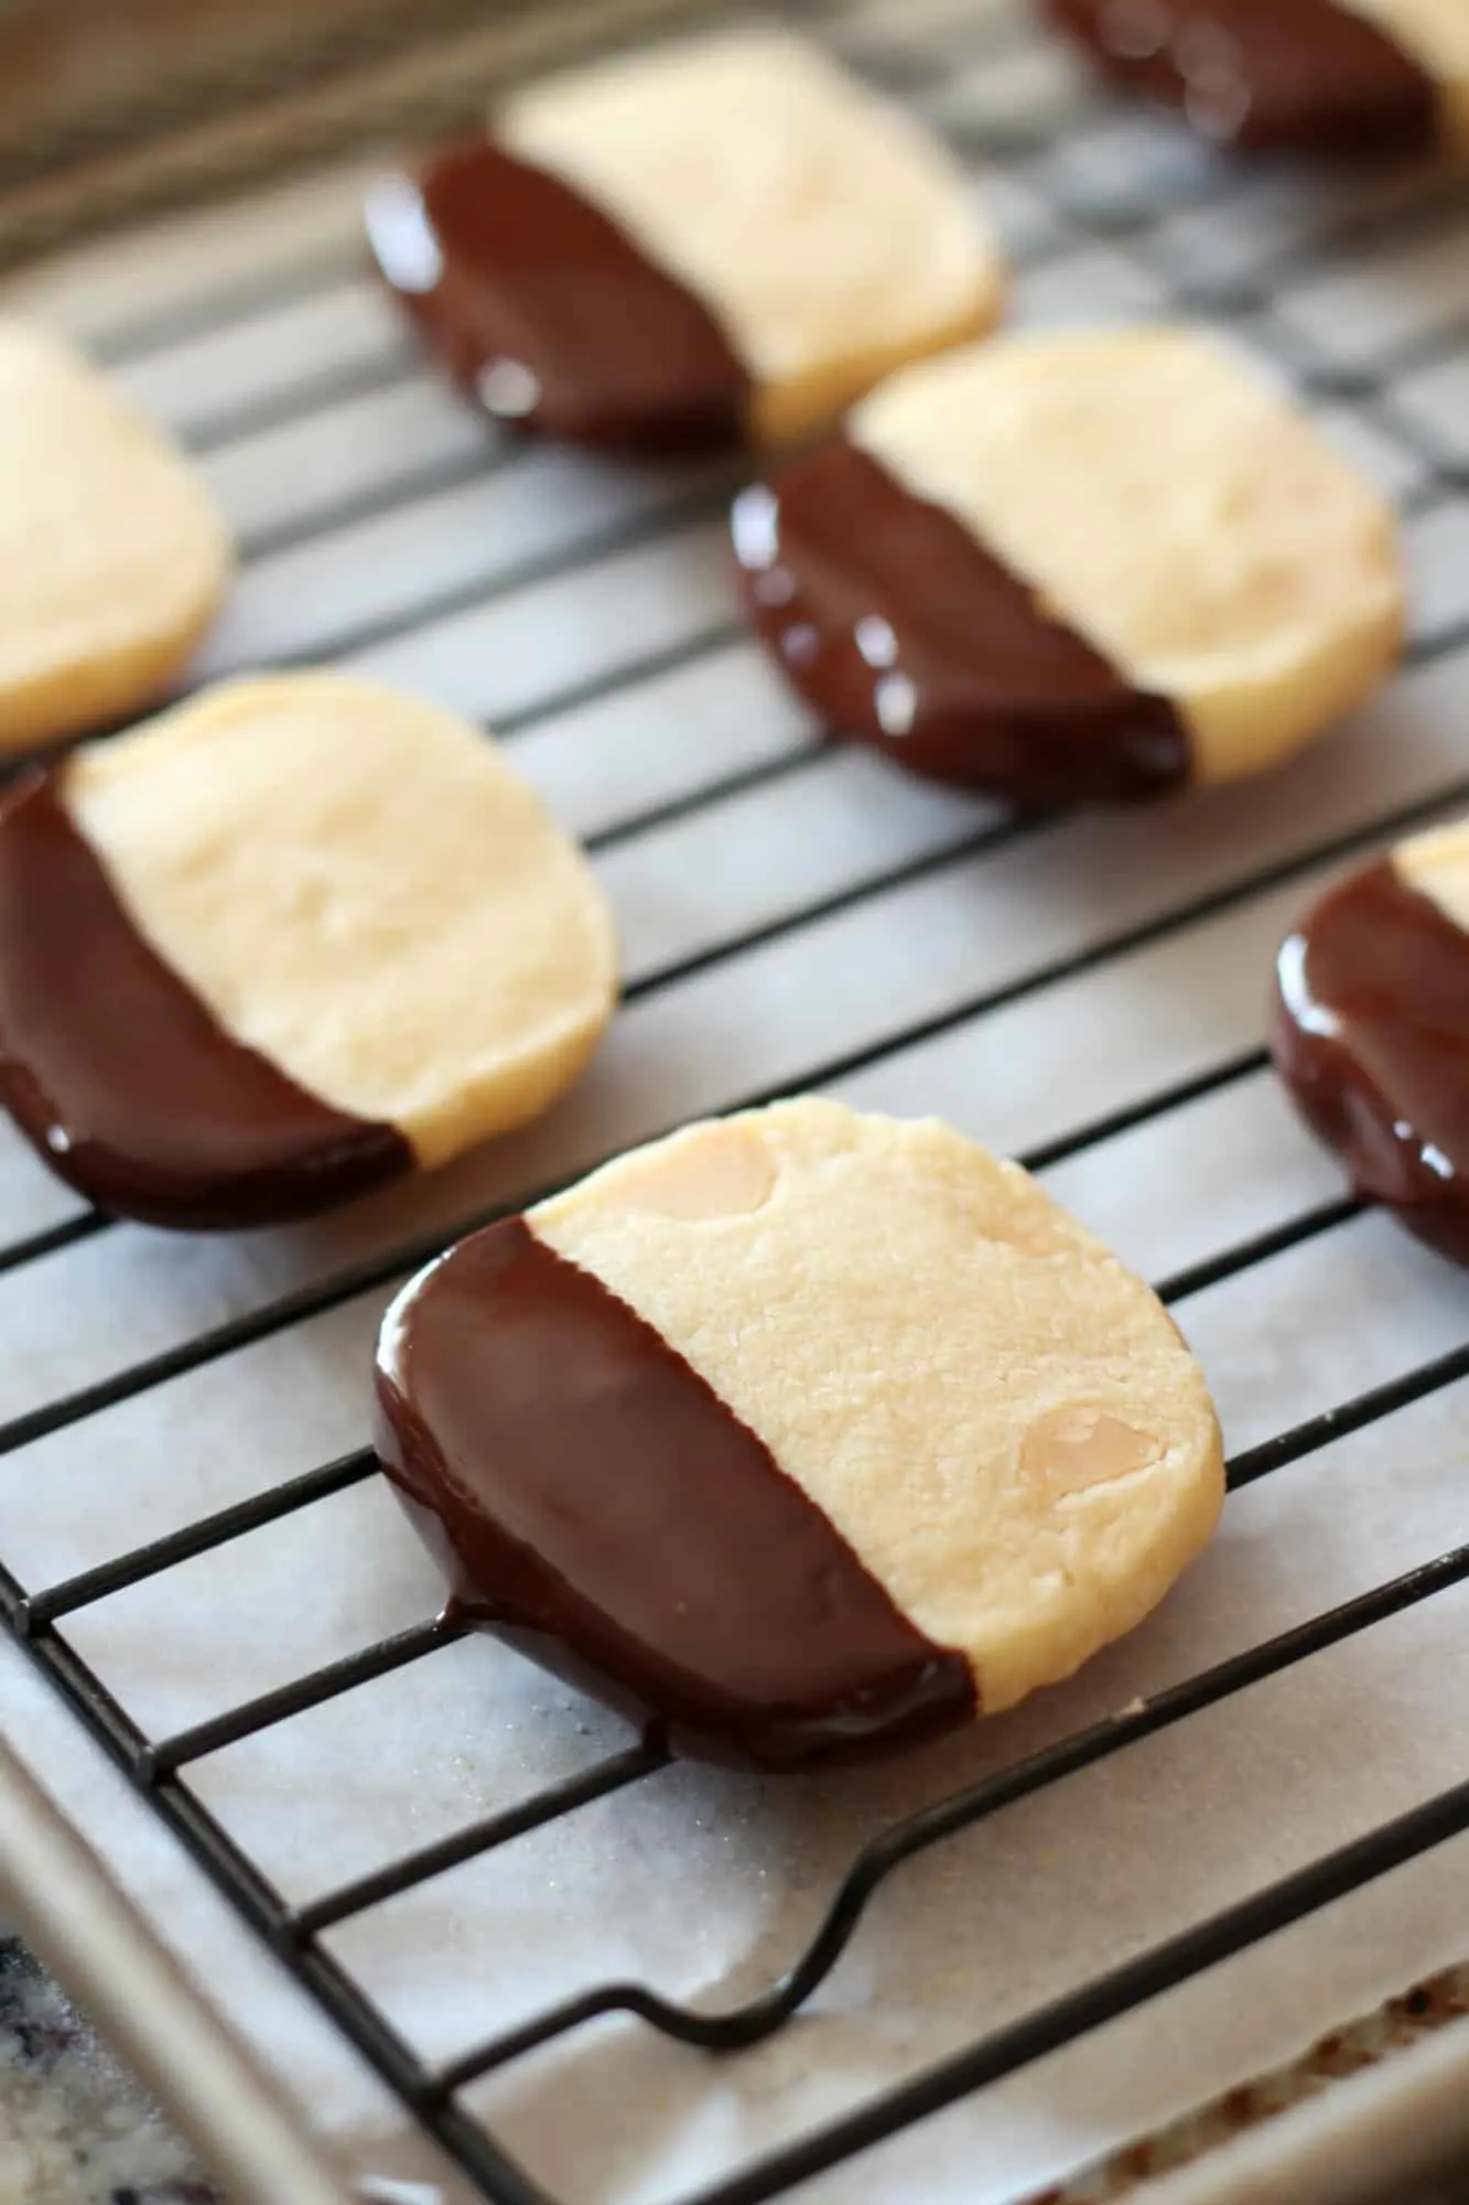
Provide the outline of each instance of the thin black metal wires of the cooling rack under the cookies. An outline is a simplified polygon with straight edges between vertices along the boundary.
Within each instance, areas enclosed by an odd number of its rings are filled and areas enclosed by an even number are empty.
[[[840,31],[847,18],[847,11],[834,7],[832,0],[825,0],[821,7],[812,0],[803,13],[816,26],[836,26],[836,31]],[[1156,137],[1149,141],[1158,154],[1156,174],[1138,172],[1134,163],[1125,172],[1114,172],[1107,187],[1105,152],[1109,135],[1118,128],[1118,110],[1101,101],[1098,95],[1081,95],[1074,88],[1057,93],[1054,77],[1043,75],[1050,64],[1032,35],[1006,24],[971,33],[968,42],[946,37],[937,49],[924,44],[922,37],[911,42],[893,37],[889,44],[865,42],[860,57],[869,73],[909,97],[933,101],[937,95],[940,119],[944,117],[944,86],[955,71],[975,73],[986,66],[993,73],[997,90],[990,95],[986,117],[979,123],[973,119],[968,123],[955,121],[951,139],[966,154],[984,154],[997,161],[1001,185],[1006,176],[1012,181],[1019,179],[1023,192],[1043,209],[1043,234],[1017,251],[1026,273],[1034,276],[1043,271],[1052,258],[1065,262],[1087,245],[1098,251],[1125,249],[1129,265],[1143,271],[1147,282],[1156,284],[1176,311],[1202,313],[1224,331],[1246,333],[1255,351],[1275,351],[1279,366],[1317,404],[1350,404],[1357,421],[1368,432],[1381,434],[1394,450],[1405,454],[1407,470],[1412,472],[1412,485],[1403,496],[1409,527],[1418,520],[1432,527],[1445,512],[1454,509],[1456,496],[1469,474],[1469,445],[1458,454],[1447,450],[1425,432],[1420,419],[1394,392],[1401,388],[1403,377],[1436,370],[1469,355],[1469,295],[1458,304],[1449,298],[1445,311],[1432,318],[1434,326],[1409,333],[1407,342],[1392,351],[1390,373],[1370,357],[1363,357],[1361,364],[1348,362],[1348,366],[1332,359],[1312,359],[1310,346],[1297,346],[1282,335],[1273,309],[1282,295],[1290,293],[1297,280],[1308,276],[1312,282],[1319,282],[1323,271],[1337,265],[1343,269],[1350,267],[1352,256],[1370,256],[1385,249],[1403,254],[1420,247],[1432,251],[1445,236],[1462,240],[1469,201],[1465,201],[1458,183],[1443,174],[1425,172],[1412,179],[1387,179],[1359,192],[1343,192],[1341,209],[1332,216],[1326,234],[1312,227],[1308,236],[1277,238],[1270,249],[1259,251],[1255,267],[1226,267],[1220,271],[1202,260],[1193,262],[1187,251],[1189,225],[1195,218],[1207,220],[1220,198],[1229,198],[1242,187],[1240,179],[1222,163],[1193,154],[1171,132],[1171,126],[1158,126]],[[1046,97],[1039,101],[1032,99],[1028,108],[1023,104],[1010,106],[1001,97],[1010,79],[1030,84],[1041,82],[1041,77]],[[1054,135],[1054,101],[1059,97],[1070,101],[1065,106],[1068,135],[1063,141]],[[1132,130],[1132,119],[1123,121]],[[1136,137],[1129,143],[1136,152]],[[1087,154],[1096,159],[1087,161]],[[1182,251],[1178,247],[1180,236],[1184,238]],[[285,269],[269,278],[251,280],[245,287],[221,289],[216,295],[192,300],[183,313],[172,313],[165,320],[119,329],[101,346],[101,353],[124,370],[132,364],[146,366],[148,357],[168,344],[185,340],[207,342],[214,335],[227,337],[254,313],[285,309],[296,300],[311,302],[322,291],[329,291],[333,282],[344,280],[349,271],[351,265],[344,260],[313,258],[300,269]],[[388,392],[410,373],[408,353],[399,344],[388,344],[366,359],[333,362],[307,381],[298,379],[282,390],[247,395],[240,401],[229,401],[223,410],[205,412],[192,421],[190,443],[201,456],[216,454],[247,434],[289,430],[313,408]],[[390,518],[412,498],[432,498],[443,490],[461,485],[465,478],[487,476],[510,465],[514,465],[512,448],[483,445],[472,452],[457,448],[441,459],[430,459],[393,474],[382,485],[337,498],[329,509],[287,516],[285,520],[258,527],[254,534],[247,529],[247,571],[265,558],[311,547],[329,529],[366,527]],[[397,598],[371,615],[342,622],[329,635],[315,635],[296,644],[285,642],[271,657],[276,664],[291,664],[379,648],[415,635],[426,622],[483,609],[527,587],[551,584],[613,553],[668,542],[679,529],[712,520],[723,507],[728,487],[726,472],[715,470],[712,478],[697,476],[684,487],[675,487],[655,512],[613,518],[609,525],[582,531],[573,545],[551,545],[521,560],[501,562],[494,573],[470,573],[443,589],[435,589],[426,598]],[[558,690],[543,686],[521,708],[498,712],[496,732],[514,739],[573,706],[604,701],[618,688],[635,692],[644,684],[715,659],[721,650],[730,648],[735,635],[732,620],[723,615],[699,622],[688,633],[629,655],[611,670],[598,670],[587,679],[573,677]],[[1465,642],[1469,642],[1469,604],[1454,617],[1434,624],[1429,633],[1416,637],[1412,664],[1418,668],[1434,666],[1460,650]],[[591,849],[596,856],[602,856],[635,845],[637,838],[697,816],[708,807],[741,798],[754,789],[796,781],[812,772],[812,763],[818,756],[821,750],[816,745],[798,745],[781,750],[774,756],[741,763],[699,781],[695,787],[618,816],[591,836]],[[805,1065],[801,1085],[818,1087],[847,1078],[893,1056],[898,1050],[933,1041],[1107,961],[1169,942],[1189,926],[1237,908],[1264,891],[1306,880],[1321,864],[1376,847],[1385,836],[1401,833],[1414,822],[1440,814],[1445,805],[1469,805],[1469,759],[1462,774],[1436,783],[1432,792],[1414,796],[1387,814],[1379,811],[1370,822],[1352,825],[1321,840],[1308,838],[1299,849],[1279,860],[1257,864],[1195,895],[1178,897],[1169,902],[1167,911],[1112,931],[1103,939],[1087,942],[1076,950],[1046,957],[1021,977],[995,986],[975,986],[933,1014],[924,1012],[904,1019],[902,1012],[896,1012],[878,1041],[862,1041],[856,1047],[827,1054],[821,1063]],[[763,919],[759,926],[746,928],[737,937],[697,944],[640,972],[629,994],[633,1001],[653,997],[701,970],[719,968],[735,955],[836,917],[884,891],[929,875],[942,875],[959,862],[975,858],[990,860],[1010,847],[1019,849],[1026,838],[1043,833],[1050,825],[1050,820],[1034,818],[984,816],[942,847],[922,851],[880,873],[869,873],[821,897],[803,897],[796,891],[790,908]],[[1048,1169],[1085,1155],[1105,1140],[1149,1127],[1176,1109],[1253,1078],[1264,1065],[1266,1054],[1262,1047],[1248,1045],[1235,1050],[1204,1069],[1193,1069],[1145,1096],[1125,1100],[1083,1125],[1070,1127],[1032,1147],[1021,1160],[1030,1169]],[[721,1098],[721,1105],[746,1107],[768,1100],[779,1091],[790,1091],[792,1085],[790,1078],[781,1078],[768,1087],[761,1085],[743,1094],[728,1094]],[[657,1129],[648,1127],[646,1131]],[[534,1193],[543,1195],[547,1191],[540,1186]],[[521,1206],[525,1200],[532,1197],[521,1193],[514,1206]],[[490,1217],[503,1215],[505,1208],[507,1204],[483,1208],[476,1215],[459,1219],[459,1228],[468,1230],[485,1224]],[[1357,1213],[1359,1204],[1350,1197],[1319,1202],[1306,1213],[1253,1233],[1160,1281],[1160,1294],[1169,1305],[1182,1305],[1189,1297],[1220,1281],[1237,1279],[1270,1257],[1348,1226]],[[68,1215],[0,1248],[0,1272],[42,1263],[110,1230],[117,1228],[104,1215],[90,1211]],[[196,1372],[205,1363],[240,1347],[280,1334],[357,1294],[386,1288],[404,1270],[437,1252],[443,1239],[446,1233],[439,1228],[399,1239],[388,1250],[340,1266],[329,1277],[267,1297],[251,1310],[205,1325],[174,1345],[139,1356],[121,1369],[15,1413],[0,1424],[0,1455],[22,1451],[71,1424],[88,1420],[187,1372]],[[1275,1431],[1270,1438],[1237,1451],[1229,1464],[1231,1491],[1242,1491],[1255,1480],[1301,1462],[1345,1433],[1376,1424],[1465,1378],[1469,1378],[1469,1316],[1465,1319],[1465,1338],[1460,1345],[1438,1352],[1407,1372],[1370,1385],[1357,1396],[1339,1400],[1326,1411],[1312,1413],[1290,1429]],[[461,2093],[472,2082],[609,2013],[633,2015],[653,2031],[710,2053],[735,2053],[741,2046],[759,2042],[779,2031],[809,2000],[849,1940],[860,1932],[862,1914],[873,1892],[924,1848],[942,1843],[962,1830],[973,1830],[1001,1808],[1059,1786],[1087,1766],[1125,1755],[1140,1740],[1187,1722],[1204,1709],[1469,1581],[1469,1544],[1465,1544],[1184,1678],[1145,1704],[1081,1729],[1032,1757],[1006,1766],[984,1782],[884,1828],[851,1861],[832,1896],[825,1921],[796,1965],[779,1982],[772,1982],[763,1993],[746,2002],[721,2011],[706,2011],[668,2000],[640,1982],[600,1982],[479,2042],[446,2064],[430,2066],[399,2035],[362,1984],[353,1980],[342,1960],[326,1949],[322,1943],[324,1932],[388,1899],[410,1892],[450,1868],[545,1828],[558,1817],[573,1815],[591,1801],[644,1782],[664,1766],[664,1755],[640,1744],[618,1751],[591,1768],[516,1799],[408,1857],[342,1881],[335,1890],[304,1905],[291,1905],[271,1885],[260,1865],[240,1850],[199,1790],[190,1786],[192,1764],[229,1744],[256,1738],[274,1724],[320,1707],[340,1693],[432,1658],[459,1636],[457,1627],[439,1618],[426,1618],[172,1735],[150,1735],[112,1696],[97,1669],[68,1643],[64,1629],[71,1616],[77,1616],[93,1603],[124,1588],[159,1579],[174,1566],[225,1548],[262,1526],[285,1521],[298,1510],[311,1508],[373,1475],[373,1455],[360,1449],[267,1486],[128,1552],[117,1552],[64,1581],[22,1583],[20,1574],[0,1568],[0,1621],[64,1693],[90,1735],[152,1804],[168,1828],[187,1846],[240,1916],[311,1991],[351,2042],[366,2053],[368,2062],[393,2086],[415,2119],[439,2139],[457,2163],[483,2187],[485,2196],[501,2198],[505,2205],[547,2205],[547,2192],[465,2110]],[[1028,2062],[1070,2044],[1085,2031],[1244,1951],[1273,1932],[1301,1921],[1462,1832],[1469,1832],[1469,1773],[1465,1782],[1370,1830],[1365,1837],[1357,1837],[1312,1859],[1306,1868],[1248,1894],[1213,1918],[1156,1943],[1125,1965],[962,2046],[931,2070],[832,2119],[825,2128],[787,2143],[761,2163],[717,2181],[712,2187],[701,2190],[699,2198],[690,2201],[690,2205],[757,2205],[757,2201],[779,2196],[803,2179],[896,2134],[907,2123],[953,2104],[964,2093],[1012,2075]]]

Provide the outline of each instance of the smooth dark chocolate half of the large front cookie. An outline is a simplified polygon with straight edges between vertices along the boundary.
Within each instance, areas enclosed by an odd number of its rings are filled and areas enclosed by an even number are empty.
[[[653,1325],[518,1217],[390,1312],[377,1449],[454,1610],[679,1753],[807,1768],[975,1713],[968,1663]]]

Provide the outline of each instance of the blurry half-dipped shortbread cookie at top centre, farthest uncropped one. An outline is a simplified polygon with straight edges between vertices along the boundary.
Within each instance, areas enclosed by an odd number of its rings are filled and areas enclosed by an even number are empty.
[[[368,236],[492,415],[591,441],[803,437],[1001,302],[957,163],[783,31],[534,86]]]

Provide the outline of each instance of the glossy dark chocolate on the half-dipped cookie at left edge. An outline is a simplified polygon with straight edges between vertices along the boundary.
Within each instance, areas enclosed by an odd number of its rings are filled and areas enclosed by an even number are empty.
[[[232,1041],[143,942],[57,774],[0,805],[0,1100],[60,1177],[163,1226],[307,1217],[412,1169]]]

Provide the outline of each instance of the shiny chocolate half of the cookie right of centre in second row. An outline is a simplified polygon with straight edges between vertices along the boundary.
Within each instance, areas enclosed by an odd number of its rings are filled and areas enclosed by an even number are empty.
[[[1165,697],[1134,690],[953,514],[843,437],[739,496],[735,553],[787,679],[918,774],[1026,805],[1189,776]]]

